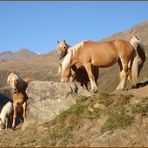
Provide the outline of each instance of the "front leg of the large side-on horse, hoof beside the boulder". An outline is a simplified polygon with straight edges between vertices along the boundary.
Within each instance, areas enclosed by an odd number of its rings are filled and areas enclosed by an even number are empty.
[[[88,63],[88,64],[85,64],[85,69],[87,71],[87,74],[88,74],[88,77],[89,77],[89,80],[90,80],[90,84],[91,84],[91,92],[97,92],[98,90],[98,87],[96,85],[96,82],[95,82],[95,78],[92,74],[92,68],[91,68],[91,64]]]

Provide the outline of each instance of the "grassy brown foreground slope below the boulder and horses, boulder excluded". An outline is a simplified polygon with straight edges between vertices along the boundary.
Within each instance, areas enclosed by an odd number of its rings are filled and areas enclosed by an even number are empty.
[[[77,97],[53,121],[0,132],[0,146],[148,146],[148,86]],[[9,141],[9,142],[8,142]]]

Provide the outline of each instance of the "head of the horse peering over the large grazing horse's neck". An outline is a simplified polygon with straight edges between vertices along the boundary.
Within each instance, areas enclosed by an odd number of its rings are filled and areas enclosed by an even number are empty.
[[[58,58],[60,60],[65,57],[65,55],[67,54],[68,48],[69,48],[69,45],[65,40],[61,42],[57,41]]]

